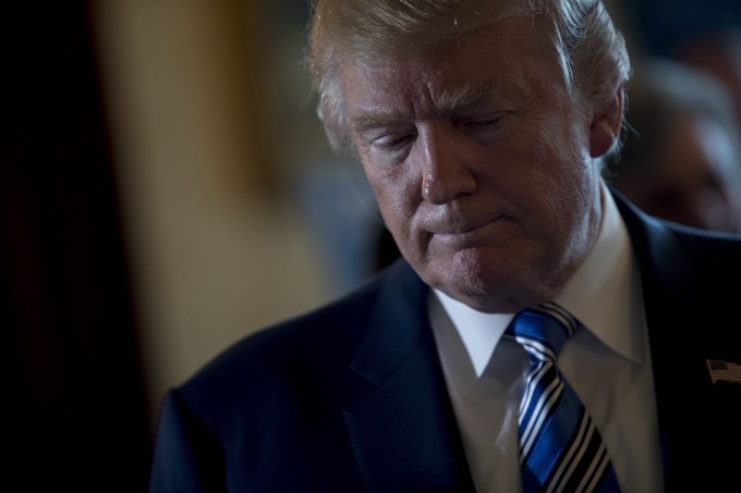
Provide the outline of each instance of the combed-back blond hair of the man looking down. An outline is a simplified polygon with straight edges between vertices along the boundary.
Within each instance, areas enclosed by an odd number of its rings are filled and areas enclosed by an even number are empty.
[[[604,112],[630,77],[624,40],[600,0],[313,0],[306,63],[336,152],[352,149],[339,69],[434,50],[476,27],[545,15],[574,101]],[[617,145],[616,145],[617,148]]]

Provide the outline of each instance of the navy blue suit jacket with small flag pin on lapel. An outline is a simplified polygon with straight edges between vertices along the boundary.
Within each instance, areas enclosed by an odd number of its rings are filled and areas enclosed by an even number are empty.
[[[741,239],[616,197],[641,266],[667,491],[741,489]],[[357,292],[247,336],[163,400],[151,492],[474,491],[428,287],[400,260]],[[731,488],[732,490],[732,488]]]

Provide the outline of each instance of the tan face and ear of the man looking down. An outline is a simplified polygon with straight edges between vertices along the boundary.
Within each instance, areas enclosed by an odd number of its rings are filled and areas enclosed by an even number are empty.
[[[588,254],[620,91],[578,111],[542,21],[513,19],[435,52],[343,67],[353,143],[401,252],[485,312],[552,298]]]

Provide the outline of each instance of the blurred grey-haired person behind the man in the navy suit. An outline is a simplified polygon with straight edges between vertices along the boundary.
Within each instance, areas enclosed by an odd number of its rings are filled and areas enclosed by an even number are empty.
[[[670,59],[636,65],[627,89],[630,130],[605,177],[649,214],[741,232],[741,130],[731,96]]]

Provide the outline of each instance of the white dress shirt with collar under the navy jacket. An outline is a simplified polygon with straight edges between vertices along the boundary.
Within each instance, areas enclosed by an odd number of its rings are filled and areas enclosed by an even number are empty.
[[[602,197],[596,245],[555,299],[587,328],[567,342],[558,366],[602,433],[621,490],[656,493],[661,452],[639,269],[604,184]],[[433,293],[433,330],[476,491],[522,491],[518,407],[530,358],[500,341],[513,315]]]

